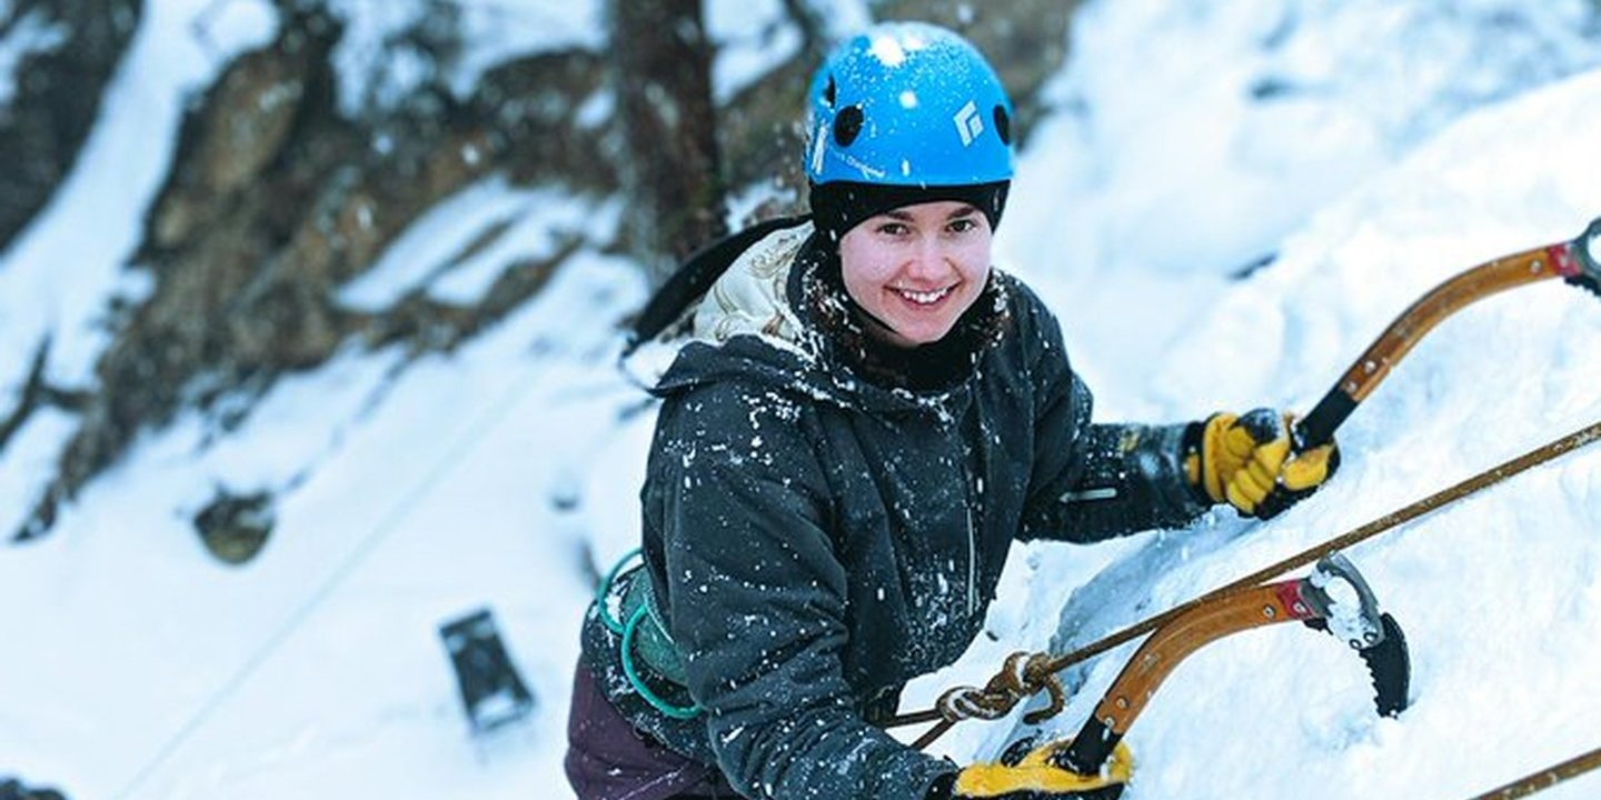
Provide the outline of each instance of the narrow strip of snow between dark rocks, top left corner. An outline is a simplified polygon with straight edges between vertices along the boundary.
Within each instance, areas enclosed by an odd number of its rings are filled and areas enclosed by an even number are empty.
[[[50,376],[58,386],[90,378],[107,342],[102,309],[117,293],[138,293],[139,282],[123,264],[142,230],[139,210],[155,195],[178,144],[186,93],[208,86],[231,58],[274,34],[271,11],[248,11],[264,0],[229,3],[235,8],[218,19],[207,19],[208,5],[171,0],[146,8],[77,165],[0,253],[0,350],[30,354],[50,336]],[[67,269],[70,280],[62,275]],[[0,397],[21,389],[27,368],[26,357],[0,362]]]

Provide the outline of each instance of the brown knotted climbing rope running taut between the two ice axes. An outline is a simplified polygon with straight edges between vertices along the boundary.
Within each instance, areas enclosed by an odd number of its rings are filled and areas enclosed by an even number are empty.
[[[1579,450],[1591,442],[1601,438],[1601,421],[1593,422],[1587,427],[1574,430],[1566,437],[1553,440],[1543,446],[1531,450],[1505,464],[1487,469],[1467,478],[1457,485],[1452,485],[1443,491],[1430,494],[1410,506],[1398,509],[1386,514],[1367,525],[1354,528],[1348,533],[1335,536],[1316,547],[1302,550],[1289,558],[1278,563],[1257,570],[1231,584],[1214,589],[1194,600],[1183,605],[1170,608],[1161,614],[1151,616],[1145,621],[1135,622],[1116,634],[1111,634],[1098,642],[1085,645],[1066,654],[1053,656],[1049,653],[1013,653],[1005,659],[1005,666],[996,674],[983,688],[978,686],[956,686],[940,696],[940,701],[933,709],[921,710],[914,714],[905,714],[892,717],[884,726],[898,728],[905,725],[921,725],[929,722],[938,722],[929,730],[922,738],[913,742],[916,749],[925,749],[933,744],[940,736],[951,730],[957,722],[967,718],[981,720],[997,720],[1012,712],[1012,709],[1037,694],[1045,691],[1050,696],[1050,706],[1039,709],[1025,717],[1028,723],[1044,722],[1061,712],[1066,704],[1066,693],[1061,688],[1061,682],[1057,674],[1077,664],[1081,661],[1090,659],[1111,648],[1132,642],[1145,634],[1162,627],[1172,619],[1194,610],[1199,605],[1218,602],[1233,597],[1247,589],[1260,586],[1263,581],[1278,578],[1290,570],[1316,563],[1319,558],[1330,555],[1338,550],[1345,550],[1358,542],[1372,539],[1385,531],[1394,530],[1407,522],[1412,522],[1425,514],[1438,510],[1444,506],[1457,502],[1470,494],[1475,494],[1484,488],[1494,486],[1519,472],[1529,470],[1556,458],[1561,458],[1574,450]]]

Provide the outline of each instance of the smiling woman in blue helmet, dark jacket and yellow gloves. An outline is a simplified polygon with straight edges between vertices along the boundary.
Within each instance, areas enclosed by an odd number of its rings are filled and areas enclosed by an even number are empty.
[[[959,35],[871,27],[809,104],[810,214],[698,256],[722,277],[653,387],[644,558],[586,616],[567,774],[608,800],[1071,797],[874,723],[980,632],[1013,541],[1266,517],[1337,453],[1292,454],[1266,410],[1090,421],[1057,318],[991,266],[1012,102]]]

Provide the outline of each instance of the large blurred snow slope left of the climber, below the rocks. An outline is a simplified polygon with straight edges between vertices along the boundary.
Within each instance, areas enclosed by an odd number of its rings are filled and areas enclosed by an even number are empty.
[[[56,534],[0,560],[8,608],[48,608],[0,621],[40,656],[6,659],[0,683],[50,691],[34,712],[0,706],[6,768],[74,797],[548,784],[560,726],[509,757],[475,749],[435,626],[492,605],[541,720],[559,722],[589,573],[581,522],[543,486],[634,402],[594,363],[599,323],[640,291],[632,266],[584,256],[471,352],[399,378],[399,354],[352,352],[280,384],[235,437],[208,446],[194,416],[152,437]],[[213,485],[293,485],[245,570],[210,562],[189,528]]]

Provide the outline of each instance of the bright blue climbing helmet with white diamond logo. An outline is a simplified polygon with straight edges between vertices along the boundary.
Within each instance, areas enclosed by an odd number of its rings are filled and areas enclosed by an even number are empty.
[[[805,173],[813,186],[972,186],[1012,178],[1012,99],[953,30],[885,22],[812,78]]]

